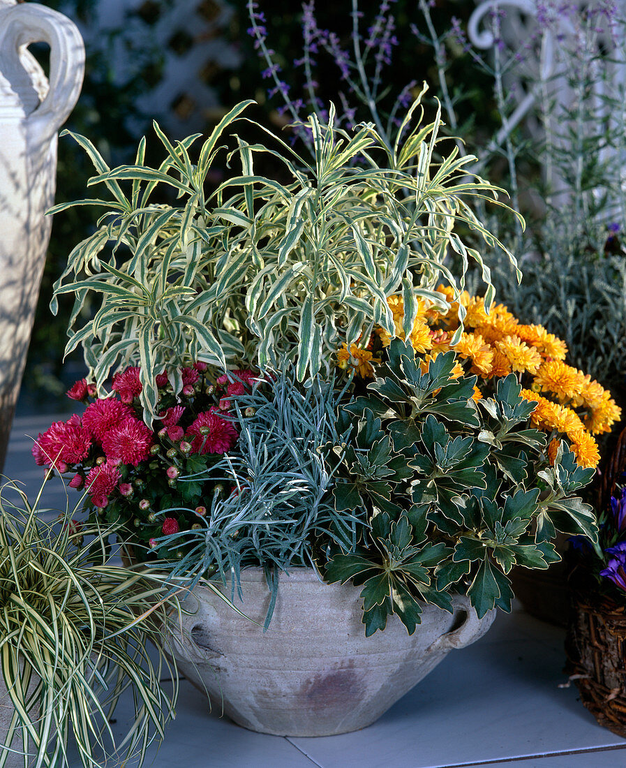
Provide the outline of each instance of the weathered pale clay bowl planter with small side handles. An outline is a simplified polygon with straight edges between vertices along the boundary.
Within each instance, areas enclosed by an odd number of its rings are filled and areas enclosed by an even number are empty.
[[[449,650],[489,629],[469,599],[454,614],[427,605],[412,636],[392,616],[365,637],[360,588],[323,584],[313,570],[281,575],[270,628],[263,571],[242,571],[237,614],[207,588],[185,601],[189,614],[171,627],[177,663],[218,712],[239,725],[278,736],[331,736],[364,728],[436,667]],[[230,588],[224,590],[230,597]],[[260,625],[260,626],[259,626]]]

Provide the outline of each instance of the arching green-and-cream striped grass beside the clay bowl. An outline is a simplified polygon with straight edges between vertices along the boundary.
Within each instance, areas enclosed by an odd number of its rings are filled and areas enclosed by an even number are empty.
[[[141,765],[174,714],[176,670],[161,646],[156,661],[147,651],[174,598],[164,601],[168,588],[150,571],[110,564],[98,531],[79,530],[67,509],[43,521],[40,498],[30,503],[12,482],[0,489],[0,683],[15,707],[0,768],[22,750],[25,768],[66,765],[71,734],[84,768],[131,756]],[[111,716],[128,687],[133,719],[120,740]]]

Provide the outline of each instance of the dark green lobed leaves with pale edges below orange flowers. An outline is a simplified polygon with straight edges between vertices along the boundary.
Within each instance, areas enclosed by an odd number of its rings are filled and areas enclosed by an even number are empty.
[[[548,464],[515,375],[475,403],[475,377],[452,378],[454,366],[445,353],[423,372],[411,346],[393,339],[367,395],[343,408],[346,443],[326,446],[336,508],[368,522],[354,551],[336,551],[326,579],[363,584],[366,634],[393,613],[414,631],[419,601],[449,608],[451,590],[466,590],[481,617],[508,611],[513,565],[557,561],[556,531],[597,538],[575,495],[592,470],[570,452]]]

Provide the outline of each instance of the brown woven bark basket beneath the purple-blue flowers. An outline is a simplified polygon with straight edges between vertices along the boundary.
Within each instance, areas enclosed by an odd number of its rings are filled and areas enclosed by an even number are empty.
[[[582,703],[601,726],[626,738],[626,606],[575,594],[565,650]]]

